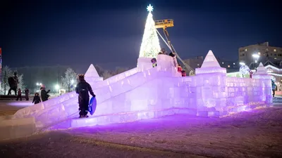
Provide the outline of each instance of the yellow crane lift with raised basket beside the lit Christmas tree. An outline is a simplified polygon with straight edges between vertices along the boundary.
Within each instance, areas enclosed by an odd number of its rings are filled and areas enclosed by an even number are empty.
[[[187,68],[187,70],[190,71],[189,74],[191,74],[191,72],[194,72],[194,70],[180,58],[178,53],[176,53],[176,50],[173,48],[173,45],[171,44],[171,40],[169,39],[169,34],[168,34],[168,31],[166,30],[166,28],[174,26],[173,19],[155,20],[154,23],[155,23],[156,29],[163,29],[164,30],[164,35],[166,36],[168,48],[170,48],[171,51],[176,54],[176,57],[183,63],[183,65]],[[159,32],[158,32],[158,34],[159,34]],[[161,37],[161,34],[159,34],[159,36]],[[164,40],[163,37],[161,37],[161,39]],[[165,43],[166,43],[166,41],[164,40]]]

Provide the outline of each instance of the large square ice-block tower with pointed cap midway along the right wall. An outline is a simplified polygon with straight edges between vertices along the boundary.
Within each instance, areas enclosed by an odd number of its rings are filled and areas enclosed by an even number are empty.
[[[214,53],[210,50],[201,68],[196,68],[197,88],[197,115],[219,116],[222,107],[226,106],[226,68],[220,67]]]

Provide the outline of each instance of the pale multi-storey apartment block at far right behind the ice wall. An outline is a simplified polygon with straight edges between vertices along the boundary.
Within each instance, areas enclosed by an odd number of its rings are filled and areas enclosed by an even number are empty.
[[[253,54],[259,55],[259,58],[254,58]],[[266,41],[263,44],[254,44],[239,48],[239,62],[245,62],[251,69],[258,66],[259,62],[263,64],[267,61],[273,62],[275,65],[282,65],[282,48],[269,46]],[[257,60],[257,63],[255,63]]]

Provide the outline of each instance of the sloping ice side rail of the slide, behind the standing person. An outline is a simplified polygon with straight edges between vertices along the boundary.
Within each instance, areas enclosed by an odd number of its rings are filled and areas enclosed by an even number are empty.
[[[158,70],[156,68],[147,70],[146,72],[138,72],[137,74],[133,74],[126,79],[118,81],[107,88],[99,88],[99,90],[95,92],[97,94],[97,105],[100,105],[105,100],[109,100],[121,93],[130,91],[131,89],[152,79],[171,76],[170,72],[157,72]],[[38,127],[44,127],[49,124],[54,124],[56,121],[67,119],[68,117],[73,116],[73,114],[78,114],[78,98],[71,98],[70,100],[66,100],[56,106],[38,110],[37,113],[32,114],[31,116],[35,117]]]

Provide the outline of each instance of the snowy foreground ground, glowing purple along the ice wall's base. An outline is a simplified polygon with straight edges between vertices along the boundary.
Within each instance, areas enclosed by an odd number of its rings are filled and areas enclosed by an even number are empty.
[[[0,157],[282,157],[279,104],[224,118],[175,115],[52,131],[2,142]]]

